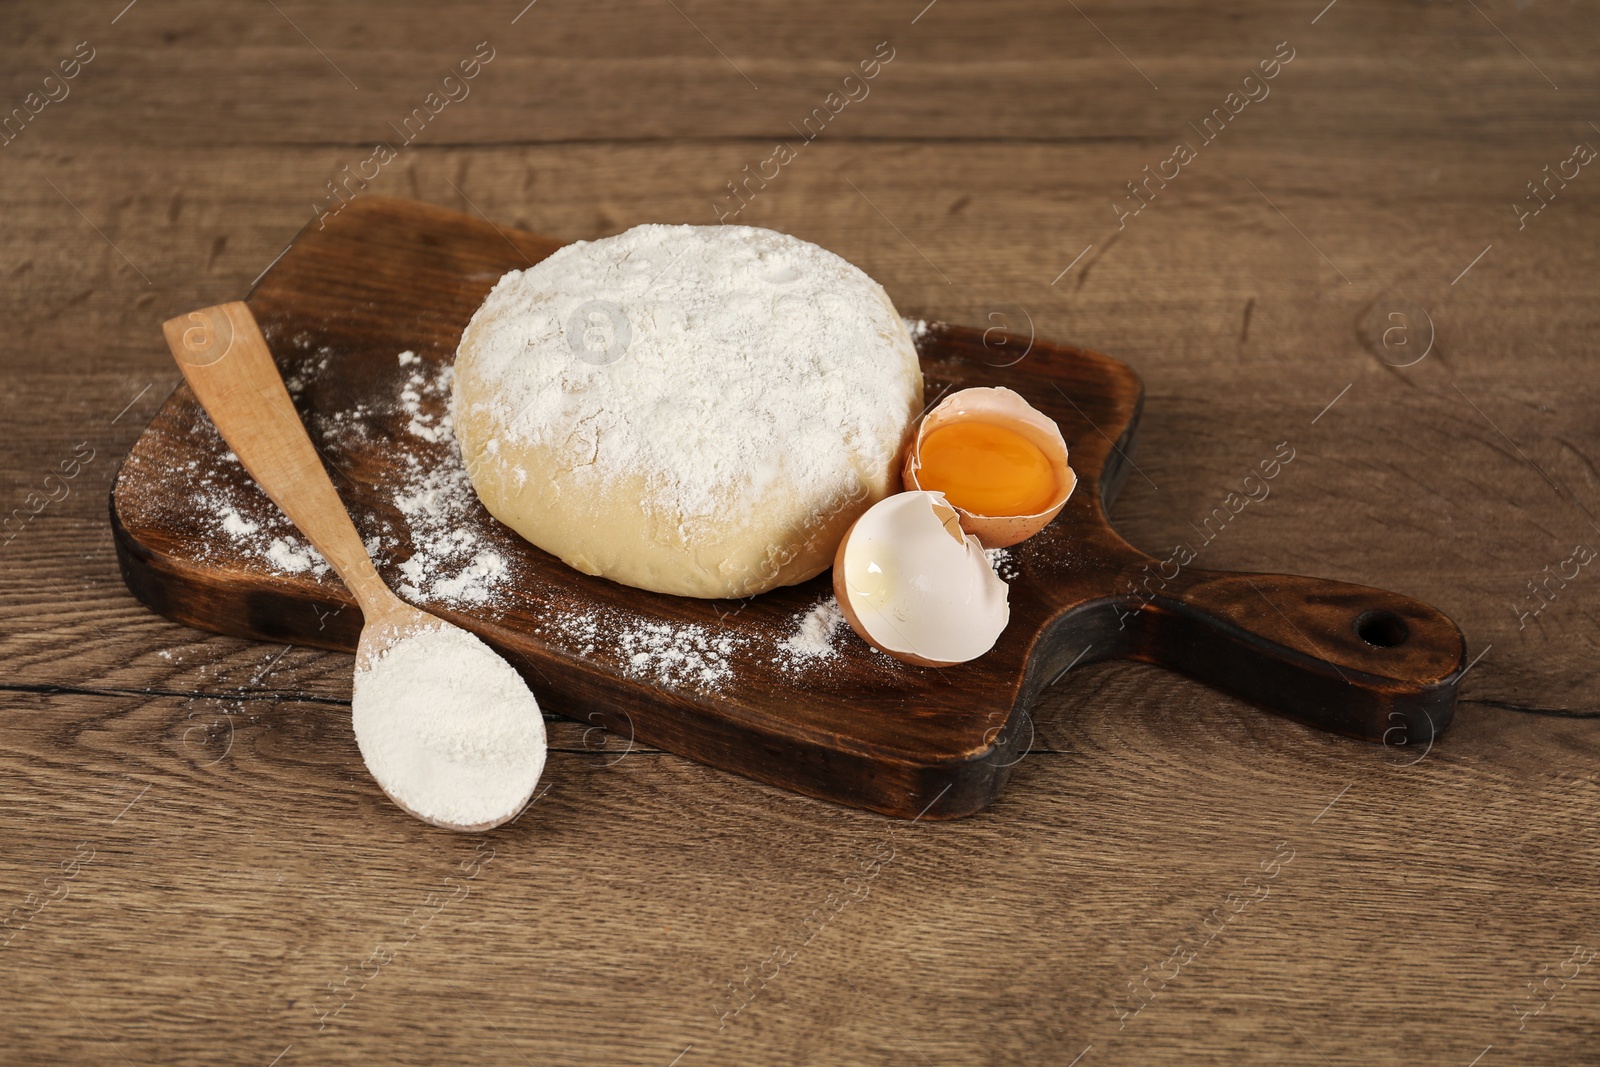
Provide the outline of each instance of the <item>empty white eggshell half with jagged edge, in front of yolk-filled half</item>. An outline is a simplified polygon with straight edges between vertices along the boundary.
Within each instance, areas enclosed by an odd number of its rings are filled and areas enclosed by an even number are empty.
[[[896,493],[861,515],[834,557],[834,595],[869,645],[923,667],[994,648],[1006,584],[942,493]]]

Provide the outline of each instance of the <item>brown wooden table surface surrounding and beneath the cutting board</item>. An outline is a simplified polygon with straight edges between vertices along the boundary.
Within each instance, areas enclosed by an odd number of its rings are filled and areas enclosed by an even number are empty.
[[[0,11],[0,1062],[1600,1062],[1592,5],[523,2]],[[1288,442],[1202,565],[1440,606],[1454,726],[1102,664],[958,822],[560,718],[514,825],[405,817],[349,657],[155,617],[107,528],[158,323],[357,173],[568,240],[739,208],[1117,355],[1118,528]]]

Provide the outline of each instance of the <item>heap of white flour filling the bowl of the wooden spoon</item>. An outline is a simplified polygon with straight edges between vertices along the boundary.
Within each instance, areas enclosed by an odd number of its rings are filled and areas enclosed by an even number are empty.
[[[504,822],[544,773],[544,715],[522,677],[466,630],[400,640],[355,675],[355,744],[395,801],[434,822]]]

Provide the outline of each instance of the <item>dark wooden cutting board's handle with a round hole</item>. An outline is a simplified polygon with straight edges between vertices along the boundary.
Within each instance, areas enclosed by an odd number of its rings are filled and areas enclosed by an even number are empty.
[[[1123,653],[1291,718],[1421,745],[1454,712],[1466,640],[1418,600],[1294,574],[1141,565],[1115,598]]]

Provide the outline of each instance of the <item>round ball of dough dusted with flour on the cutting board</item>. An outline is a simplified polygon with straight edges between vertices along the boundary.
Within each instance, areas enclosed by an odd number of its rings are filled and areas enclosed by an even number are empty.
[[[806,581],[899,490],[922,368],[883,288],[747,226],[638,226],[499,280],[454,426],[502,523],[586,574],[685,597]]]

